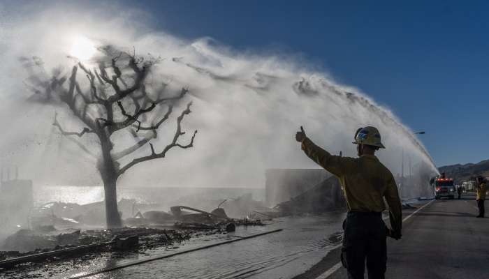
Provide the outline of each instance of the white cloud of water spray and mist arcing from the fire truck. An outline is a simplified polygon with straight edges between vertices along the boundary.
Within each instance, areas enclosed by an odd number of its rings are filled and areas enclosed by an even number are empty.
[[[413,169],[437,172],[423,145],[392,112],[298,56],[237,52],[212,38],[186,40],[153,30],[141,20],[148,15],[122,6],[53,7],[21,10],[0,4],[0,163],[18,165],[21,176],[35,184],[101,184],[94,158],[52,126],[54,112],[66,130],[80,131],[81,123],[63,105],[29,102],[31,81],[20,61],[36,56],[48,71],[61,66],[70,73],[75,60],[67,56],[78,38],[161,56],[149,80],[168,83],[175,93],[189,88],[189,96],[160,128],[161,137],[152,141],[156,149],[173,137],[175,115],[184,103],[194,102],[182,123],[183,130],[198,130],[194,148],[173,149],[166,158],[136,165],[119,185],[263,187],[267,168],[317,167],[294,140],[301,125],[316,144],[343,156],[356,156],[351,142],[357,128],[377,126],[387,148],[379,158],[393,174],[401,172],[403,150],[405,173],[408,158],[427,166]],[[181,137],[182,143],[190,136]],[[118,143],[116,151],[128,144]],[[147,153],[149,147],[136,155]]]

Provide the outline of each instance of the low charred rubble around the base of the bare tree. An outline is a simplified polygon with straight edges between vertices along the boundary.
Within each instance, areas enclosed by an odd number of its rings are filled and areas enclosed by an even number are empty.
[[[54,206],[54,204],[53,204]],[[73,210],[73,208],[67,208]],[[147,250],[166,246],[173,242],[188,240],[191,236],[226,234],[234,232],[240,225],[265,225],[260,219],[228,218],[224,209],[214,209],[211,213],[189,206],[172,206],[171,213],[164,211],[138,212],[135,217],[124,220],[154,227],[124,227],[122,229],[62,229],[54,225],[38,225],[35,230],[20,229],[8,236],[0,246],[0,268],[8,266],[13,257],[26,257],[25,261],[61,257],[80,257],[89,252],[112,250]],[[137,221],[136,221],[137,220]],[[155,226],[170,222],[172,229]],[[41,257],[43,254],[44,256]],[[27,257],[31,255],[32,257]],[[17,262],[15,262],[16,264]]]

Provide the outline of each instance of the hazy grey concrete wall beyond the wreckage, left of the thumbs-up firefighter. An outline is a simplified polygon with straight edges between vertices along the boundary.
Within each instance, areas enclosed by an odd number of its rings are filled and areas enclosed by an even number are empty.
[[[265,204],[275,206],[304,193],[331,174],[324,169],[267,169],[265,171]]]

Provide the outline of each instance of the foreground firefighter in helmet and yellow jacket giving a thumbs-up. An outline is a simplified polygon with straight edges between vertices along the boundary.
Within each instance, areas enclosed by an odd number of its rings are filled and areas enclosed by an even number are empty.
[[[359,158],[333,156],[309,140],[305,131],[295,134],[302,150],[309,158],[340,179],[348,213],[343,223],[342,264],[348,277],[363,278],[365,259],[368,278],[384,278],[387,251],[386,236],[401,239],[401,211],[399,193],[392,173],[380,163],[375,151],[384,149],[379,130],[374,127],[359,128],[353,144]],[[382,220],[389,206],[391,229]]]

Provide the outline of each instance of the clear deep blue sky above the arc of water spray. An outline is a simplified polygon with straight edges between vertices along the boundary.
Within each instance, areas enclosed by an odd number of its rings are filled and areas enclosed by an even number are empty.
[[[126,1],[155,29],[288,53],[390,108],[437,165],[488,159],[486,1]]]

